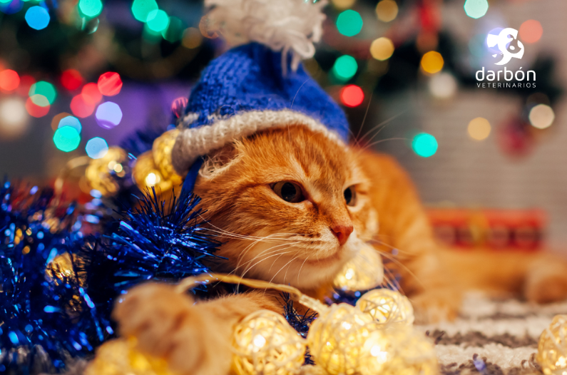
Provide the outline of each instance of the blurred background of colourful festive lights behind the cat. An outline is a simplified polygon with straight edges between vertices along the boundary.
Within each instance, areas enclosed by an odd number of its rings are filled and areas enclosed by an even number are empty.
[[[330,0],[326,11],[306,68],[353,138],[409,170],[441,240],[567,248],[567,1]],[[137,157],[226,48],[202,16],[196,0],[0,0],[0,173],[45,185],[109,145]],[[503,69],[487,40],[504,28],[524,47],[506,68],[534,71],[530,88],[478,86],[477,71]],[[92,193],[84,169],[76,181]]]

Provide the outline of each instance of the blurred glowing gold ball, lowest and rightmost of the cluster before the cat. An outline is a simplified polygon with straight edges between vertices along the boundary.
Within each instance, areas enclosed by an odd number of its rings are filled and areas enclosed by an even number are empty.
[[[435,375],[434,346],[412,327],[394,326],[372,332],[364,342],[361,375]]]

